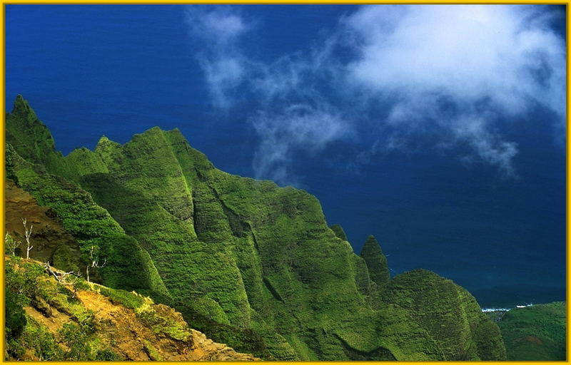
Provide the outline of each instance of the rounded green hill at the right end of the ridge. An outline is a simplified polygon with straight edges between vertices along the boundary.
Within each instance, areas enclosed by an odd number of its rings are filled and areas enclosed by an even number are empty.
[[[382,301],[406,309],[446,360],[505,359],[500,331],[474,297],[451,280],[417,269],[388,282]]]

